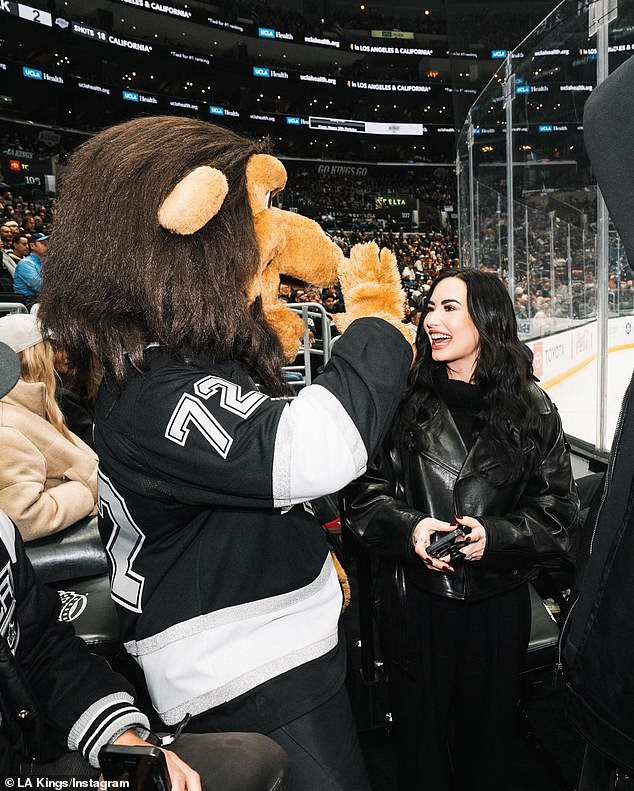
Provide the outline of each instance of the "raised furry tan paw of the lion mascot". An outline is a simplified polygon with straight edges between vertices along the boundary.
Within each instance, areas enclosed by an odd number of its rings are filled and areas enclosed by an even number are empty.
[[[383,248],[379,254],[374,242],[355,244],[339,266],[339,282],[346,305],[346,312],[335,316],[340,332],[355,319],[376,316],[412,343],[415,328],[403,324],[405,293],[394,253]]]

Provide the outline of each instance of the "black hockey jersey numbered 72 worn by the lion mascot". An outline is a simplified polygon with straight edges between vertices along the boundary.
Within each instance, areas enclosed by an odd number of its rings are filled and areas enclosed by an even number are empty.
[[[167,724],[233,702],[229,727],[277,727],[344,672],[337,576],[301,504],[365,470],[411,350],[386,322],[360,319],[291,401],[260,393],[233,361],[187,365],[154,346],[145,362],[122,392],[104,381],[95,416],[126,648]]]

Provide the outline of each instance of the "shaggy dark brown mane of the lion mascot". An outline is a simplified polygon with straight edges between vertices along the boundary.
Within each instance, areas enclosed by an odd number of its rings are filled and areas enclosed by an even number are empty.
[[[84,143],[64,174],[39,316],[81,371],[96,357],[123,385],[158,342],[186,358],[211,352],[244,364],[270,395],[287,393],[281,343],[257,299],[259,270],[246,165],[267,143],[193,118],[137,118]],[[191,235],[157,220],[174,186],[200,165],[229,192]]]

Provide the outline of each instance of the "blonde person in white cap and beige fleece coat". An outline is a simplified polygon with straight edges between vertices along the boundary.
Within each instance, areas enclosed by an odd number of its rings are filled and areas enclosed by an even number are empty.
[[[20,379],[0,400],[0,508],[30,541],[96,513],[98,459],[64,422],[53,347],[37,318],[3,316],[0,341],[21,363]]]

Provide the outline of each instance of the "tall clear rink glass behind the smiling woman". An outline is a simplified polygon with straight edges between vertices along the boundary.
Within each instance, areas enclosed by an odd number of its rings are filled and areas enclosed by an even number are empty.
[[[501,61],[461,130],[457,162],[463,265],[504,279],[564,428],[603,452],[634,368],[634,286],[609,218],[607,260],[598,240],[583,108],[603,50],[589,11],[564,0]],[[634,0],[599,24],[609,73],[634,54]]]

